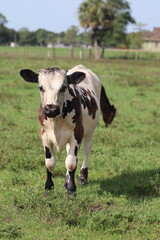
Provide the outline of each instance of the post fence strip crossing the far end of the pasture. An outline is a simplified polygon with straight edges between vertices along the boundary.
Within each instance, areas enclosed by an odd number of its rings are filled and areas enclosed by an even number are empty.
[[[22,56],[64,57],[64,58],[94,58],[94,49],[90,48],[47,48],[47,47],[4,47],[0,46],[0,54],[15,54]],[[105,59],[135,59],[160,60],[160,51],[149,52],[131,49],[105,49]]]

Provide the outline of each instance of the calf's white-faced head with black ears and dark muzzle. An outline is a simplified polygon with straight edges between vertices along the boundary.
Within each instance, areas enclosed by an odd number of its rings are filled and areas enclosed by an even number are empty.
[[[23,69],[20,71],[20,75],[27,82],[39,84],[43,113],[49,118],[61,114],[68,85],[78,84],[85,78],[83,72],[74,72],[67,75],[67,71],[59,68],[41,69],[39,74],[30,69]]]

